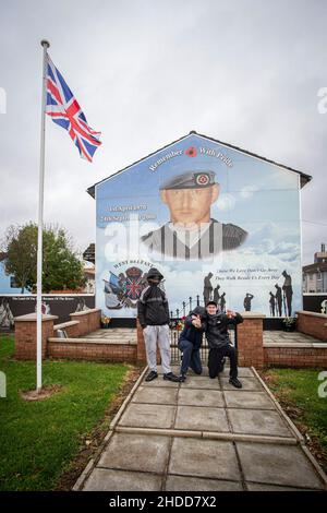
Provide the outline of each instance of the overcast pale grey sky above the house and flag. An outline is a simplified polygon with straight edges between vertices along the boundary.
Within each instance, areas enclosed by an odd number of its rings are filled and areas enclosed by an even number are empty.
[[[84,250],[95,241],[86,189],[196,130],[313,176],[302,190],[303,264],[313,262],[327,243],[325,0],[0,2],[0,238],[37,220],[47,38],[102,145],[88,164],[47,119],[46,223]]]

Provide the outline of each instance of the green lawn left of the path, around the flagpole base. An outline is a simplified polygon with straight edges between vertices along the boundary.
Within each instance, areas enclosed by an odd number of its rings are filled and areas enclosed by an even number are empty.
[[[108,427],[106,410],[132,367],[45,361],[44,385],[62,389],[26,402],[21,391],[35,389],[35,363],[13,360],[13,336],[0,335],[0,370],[7,374],[7,397],[0,398],[0,490],[51,490],[85,436],[96,426]]]

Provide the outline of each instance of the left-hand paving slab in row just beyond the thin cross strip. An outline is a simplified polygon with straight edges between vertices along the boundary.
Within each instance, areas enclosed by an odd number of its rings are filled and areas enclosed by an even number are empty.
[[[174,414],[174,406],[131,403],[118,426],[171,429]]]

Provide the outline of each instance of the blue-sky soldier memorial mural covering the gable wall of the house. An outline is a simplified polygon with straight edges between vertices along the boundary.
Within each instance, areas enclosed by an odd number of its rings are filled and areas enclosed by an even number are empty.
[[[267,317],[302,308],[299,174],[190,134],[96,186],[96,202],[105,314],[136,315],[150,266],[173,312],[196,296]]]

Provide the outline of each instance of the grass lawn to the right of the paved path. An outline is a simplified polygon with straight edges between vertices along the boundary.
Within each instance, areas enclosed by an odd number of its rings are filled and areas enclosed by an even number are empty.
[[[264,379],[300,431],[308,437],[308,445],[326,472],[327,397],[318,396],[322,370],[269,369]]]

